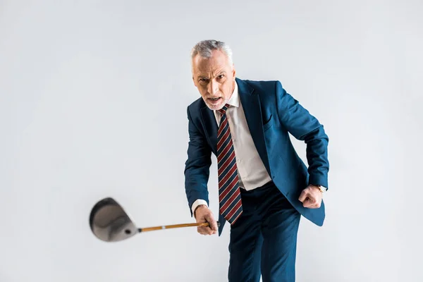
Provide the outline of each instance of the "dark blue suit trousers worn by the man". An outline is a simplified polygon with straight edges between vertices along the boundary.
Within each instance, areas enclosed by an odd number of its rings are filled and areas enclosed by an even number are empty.
[[[229,282],[293,282],[300,214],[271,182],[241,189],[243,214],[231,226]]]

